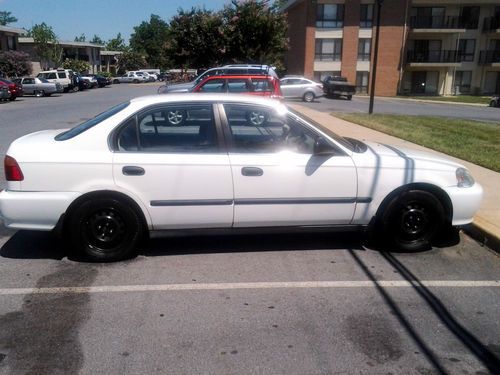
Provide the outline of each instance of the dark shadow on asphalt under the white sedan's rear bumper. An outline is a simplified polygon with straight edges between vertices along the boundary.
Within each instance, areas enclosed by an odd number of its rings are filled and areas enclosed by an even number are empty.
[[[0,239],[4,236],[5,234],[0,232]],[[62,239],[53,233],[30,230],[20,230],[13,233],[0,248],[1,257],[13,259],[61,260],[66,256],[66,253]]]

